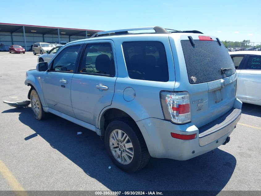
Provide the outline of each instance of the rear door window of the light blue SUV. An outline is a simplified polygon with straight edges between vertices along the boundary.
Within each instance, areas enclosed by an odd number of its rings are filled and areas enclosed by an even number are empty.
[[[83,54],[79,72],[115,76],[111,44],[88,44]]]

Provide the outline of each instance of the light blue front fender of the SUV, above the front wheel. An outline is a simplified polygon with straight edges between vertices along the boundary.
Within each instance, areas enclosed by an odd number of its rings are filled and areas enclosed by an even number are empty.
[[[42,75],[43,72],[38,72],[36,70],[30,70],[27,72],[27,77],[24,81],[25,85],[33,86],[40,98],[43,107],[47,107],[44,101],[44,94],[42,90]],[[40,78],[40,79],[39,79]]]

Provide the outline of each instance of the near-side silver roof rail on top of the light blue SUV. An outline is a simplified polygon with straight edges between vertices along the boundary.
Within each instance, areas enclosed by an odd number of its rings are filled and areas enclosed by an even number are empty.
[[[115,33],[116,35],[128,34],[128,31],[137,31],[137,30],[155,30],[155,33],[169,33],[165,28],[155,26],[155,27],[141,27],[141,28],[128,28],[128,29],[120,29],[120,30],[112,30],[112,31],[101,31],[93,34],[92,37],[98,37],[99,35]]]

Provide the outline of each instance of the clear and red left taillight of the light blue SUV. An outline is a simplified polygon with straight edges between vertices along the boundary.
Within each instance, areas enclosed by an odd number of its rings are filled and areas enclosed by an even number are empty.
[[[191,121],[188,92],[162,91],[160,99],[166,120],[171,120],[177,124],[184,124]]]

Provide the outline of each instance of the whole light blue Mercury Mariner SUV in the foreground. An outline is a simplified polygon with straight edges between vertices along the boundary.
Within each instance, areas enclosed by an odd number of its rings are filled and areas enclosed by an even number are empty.
[[[150,156],[187,160],[226,144],[241,115],[234,64],[199,31],[99,32],[38,63],[25,84],[36,119],[51,112],[104,136],[127,172]]]

